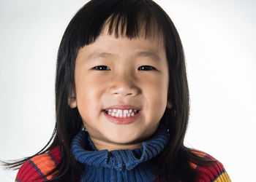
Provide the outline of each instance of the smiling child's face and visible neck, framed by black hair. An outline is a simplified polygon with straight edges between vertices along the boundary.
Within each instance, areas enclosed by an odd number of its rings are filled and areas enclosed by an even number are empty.
[[[150,66],[156,70],[143,70]],[[157,130],[167,106],[168,82],[162,41],[116,39],[104,31],[97,41],[78,52],[76,99],[69,105],[78,107],[97,149],[131,149],[140,146]],[[112,116],[111,120],[111,115],[105,114],[105,109],[115,105],[129,105],[140,111],[124,124],[120,118],[113,120],[115,116]]]

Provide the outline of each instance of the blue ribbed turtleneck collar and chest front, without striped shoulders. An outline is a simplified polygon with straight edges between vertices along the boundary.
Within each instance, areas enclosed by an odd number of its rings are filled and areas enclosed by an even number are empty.
[[[159,124],[157,131],[138,149],[98,151],[89,133],[83,130],[72,140],[72,153],[84,166],[80,181],[154,181],[154,165],[151,162],[166,146],[167,128]]]

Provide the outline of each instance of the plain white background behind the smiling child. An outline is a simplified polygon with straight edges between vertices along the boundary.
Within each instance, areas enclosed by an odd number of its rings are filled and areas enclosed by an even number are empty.
[[[0,1],[0,159],[35,154],[54,127],[56,55],[86,1]],[[232,181],[255,180],[256,1],[156,1],[184,44],[191,96],[186,145],[211,154]],[[17,171],[0,169],[0,181]]]

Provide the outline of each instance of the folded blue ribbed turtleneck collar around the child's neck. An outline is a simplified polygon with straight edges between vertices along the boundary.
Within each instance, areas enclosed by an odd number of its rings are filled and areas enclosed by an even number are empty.
[[[167,141],[167,128],[159,124],[151,139],[143,142],[138,149],[98,151],[86,130],[80,131],[75,136],[71,147],[75,159],[80,163],[116,170],[132,170],[141,162],[146,162],[157,156],[165,148]]]

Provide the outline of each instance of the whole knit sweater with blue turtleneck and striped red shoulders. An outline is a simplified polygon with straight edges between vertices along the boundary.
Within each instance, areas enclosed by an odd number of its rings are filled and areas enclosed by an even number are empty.
[[[88,132],[81,131],[72,141],[75,159],[84,167],[80,181],[154,181],[156,169],[151,159],[165,148],[168,138],[167,128],[160,124],[154,135],[142,143],[142,147],[109,152],[98,151]],[[215,160],[203,151],[191,149],[191,152],[198,157]],[[47,174],[60,162],[61,146],[56,146],[45,154],[27,160],[20,167],[16,181],[48,181],[53,175]],[[196,181],[230,182],[229,175],[218,161],[211,166],[189,164],[198,172]]]

